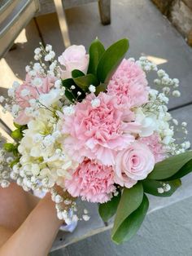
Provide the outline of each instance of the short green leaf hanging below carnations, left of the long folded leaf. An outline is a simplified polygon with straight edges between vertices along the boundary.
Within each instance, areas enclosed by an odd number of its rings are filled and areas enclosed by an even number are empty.
[[[103,218],[104,222],[107,222],[113,215],[116,214],[117,206],[120,202],[120,192],[118,196],[113,196],[111,201],[107,201],[107,203],[100,204],[98,206],[98,213],[101,218]]]

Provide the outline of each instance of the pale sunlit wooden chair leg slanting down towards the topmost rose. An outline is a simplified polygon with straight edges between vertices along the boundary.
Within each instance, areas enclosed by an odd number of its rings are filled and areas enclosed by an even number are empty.
[[[71,42],[68,35],[68,24],[67,24],[65,12],[63,9],[63,2],[62,0],[54,0],[54,2],[55,2],[57,15],[58,15],[60,30],[62,33],[63,43],[64,43],[64,46],[67,48],[68,46],[71,45]]]

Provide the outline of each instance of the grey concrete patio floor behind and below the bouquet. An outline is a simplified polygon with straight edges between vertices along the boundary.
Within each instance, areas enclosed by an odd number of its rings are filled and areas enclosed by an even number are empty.
[[[181,35],[161,15],[150,0],[112,0],[111,25],[100,24],[96,3],[87,4],[66,11],[72,44],[86,47],[96,37],[105,46],[127,37],[130,49],[127,56],[137,58],[147,55],[159,67],[168,71],[171,77],[181,81],[181,98],[171,99],[169,108],[179,120],[189,119],[192,128],[192,49]],[[37,17],[17,38],[15,51],[7,53],[0,60],[0,94],[15,79],[24,79],[24,67],[33,59],[33,49],[44,41],[54,46],[57,55],[64,50],[59,24],[55,14]],[[37,29],[40,30],[40,33]],[[174,110],[175,109],[175,110]],[[9,119],[11,125],[11,119]],[[190,128],[189,127],[189,128]],[[192,134],[189,135],[192,141]],[[187,196],[186,196],[187,197]],[[132,241],[116,246],[110,241],[109,232],[89,237],[67,249],[60,249],[51,256],[190,256],[192,255],[192,198],[149,214],[141,231]]]

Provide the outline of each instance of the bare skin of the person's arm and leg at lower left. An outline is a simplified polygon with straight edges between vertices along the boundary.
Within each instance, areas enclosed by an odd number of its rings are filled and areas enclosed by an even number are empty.
[[[0,188],[0,256],[45,256],[61,226],[50,194],[40,201],[15,183]]]

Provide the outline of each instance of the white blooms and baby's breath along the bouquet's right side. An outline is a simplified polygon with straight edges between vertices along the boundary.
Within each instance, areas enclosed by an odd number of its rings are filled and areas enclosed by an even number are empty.
[[[142,69],[147,73],[149,71],[156,71],[158,78],[154,80],[155,85],[162,89],[149,90],[149,102],[144,104],[142,108],[135,110],[136,121],[142,124],[142,130],[140,132],[141,137],[152,135],[155,131],[160,135],[161,143],[164,145],[166,152],[171,155],[185,152],[190,148],[189,141],[183,141],[183,143],[177,143],[177,139],[173,138],[175,131],[177,131],[178,121],[172,119],[170,113],[168,113],[168,97],[170,95],[179,97],[181,95],[179,90],[175,90],[179,86],[179,80],[177,78],[170,78],[168,73],[165,73],[163,69],[159,69],[151,64],[146,57],[141,57],[137,60]],[[186,123],[182,123],[181,131],[183,134],[187,134]],[[185,139],[182,138],[183,140]]]

